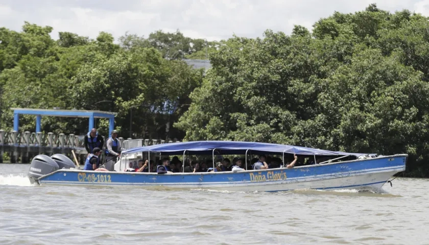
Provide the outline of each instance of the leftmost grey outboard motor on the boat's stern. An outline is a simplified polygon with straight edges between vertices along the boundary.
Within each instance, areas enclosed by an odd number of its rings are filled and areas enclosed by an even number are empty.
[[[39,183],[37,180],[39,177],[50,174],[58,169],[58,164],[49,156],[37,155],[31,161],[28,178],[32,184]]]

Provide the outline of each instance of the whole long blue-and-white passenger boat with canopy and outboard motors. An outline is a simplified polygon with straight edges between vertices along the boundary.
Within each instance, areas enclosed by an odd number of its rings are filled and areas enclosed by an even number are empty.
[[[242,156],[246,163],[255,155],[276,155],[281,165],[275,168],[242,171],[210,171],[205,173],[157,174],[127,172],[138,159],[157,160],[166,156],[180,156],[183,162],[189,156],[206,156],[216,169],[216,160],[222,156]],[[300,166],[285,167],[287,159],[296,154]],[[58,155],[58,154],[57,154]],[[191,141],[142,146],[123,151],[115,164],[115,171],[86,171],[71,167],[71,160],[56,160],[39,155],[42,161],[54,165],[40,167],[33,164],[29,177],[41,185],[84,186],[165,186],[168,188],[198,188],[229,191],[285,191],[294,189],[372,189],[379,190],[396,173],[405,170],[407,154],[377,156],[375,154],[333,152],[293,145],[236,142]],[[37,157],[35,158],[37,160]],[[57,156],[58,158],[58,156]],[[69,160],[69,159],[68,159]],[[33,160],[34,161],[34,160]],[[43,163],[44,164],[44,163]],[[33,169],[32,169],[33,168]],[[49,168],[49,169],[48,169]],[[149,166],[151,169],[152,166]],[[49,172],[49,173],[46,173]],[[32,175],[33,173],[35,175]]]

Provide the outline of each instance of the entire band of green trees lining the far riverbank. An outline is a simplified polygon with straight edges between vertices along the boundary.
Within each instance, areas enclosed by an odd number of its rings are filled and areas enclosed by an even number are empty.
[[[429,177],[429,22],[375,4],[313,30],[206,42],[179,31],[92,40],[25,22],[0,28],[1,126],[10,108],[118,112],[124,137],[239,140],[409,154],[404,177]],[[194,69],[182,59],[210,60]],[[131,122],[131,124],[130,124]],[[34,116],[20,116],[34,131]],[[97,121],[108,134],[108,121]],[[85,134],[87,120],[42,117],[42,131]]]

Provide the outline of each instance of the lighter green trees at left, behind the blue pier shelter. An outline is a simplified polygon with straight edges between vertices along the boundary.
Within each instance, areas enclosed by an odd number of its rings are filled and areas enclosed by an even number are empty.
[[[60,32],[57,41],[51,32],[28,22],[22,32],[0,29],[3,129],[12,128],[11,107],[57,107],[118,112],[115,123],[126,138],[183,137],[171,125],[201,84],[200,70],[163,59],[162,51],[135,35],[116,44],[104,32],[95,40]],[[107,120],[97,125],[108,134]],[[84,134],[87,126],[87,119],[42,117],[44,132]],[[20,130],[34,129],[35,117],[21,115]]]

